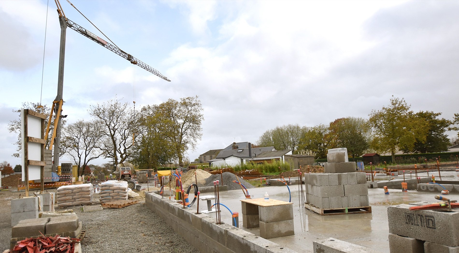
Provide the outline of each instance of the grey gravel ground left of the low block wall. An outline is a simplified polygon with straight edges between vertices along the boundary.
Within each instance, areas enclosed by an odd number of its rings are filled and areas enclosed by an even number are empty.
[[[10,247],[11,199],[24,192],[0,192],[0,252]],[[179,236],[144,201],[121,209],[82,212],[70,207],[82,222],[86,235],[83,253],[199,253]],[[57,209],[59,210],[59,209]]]

